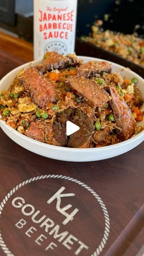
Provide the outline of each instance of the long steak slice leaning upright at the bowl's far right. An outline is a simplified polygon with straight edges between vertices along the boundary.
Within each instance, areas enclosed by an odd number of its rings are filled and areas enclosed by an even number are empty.
[[[114,118],[116,125],[122,128],[122,132],[119,135],[120,140],[127,140],[134,134],[136,122],[134,116],[126,102],[120,97],[115,87],[110,87],[110,105],[114,112]]]

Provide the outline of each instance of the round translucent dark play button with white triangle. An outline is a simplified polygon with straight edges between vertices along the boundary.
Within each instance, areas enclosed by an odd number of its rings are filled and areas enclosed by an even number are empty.
[[[91,144],[93,123],[83,110],[67,108],[56,113],[52,131],[58,146],[88,148]]]

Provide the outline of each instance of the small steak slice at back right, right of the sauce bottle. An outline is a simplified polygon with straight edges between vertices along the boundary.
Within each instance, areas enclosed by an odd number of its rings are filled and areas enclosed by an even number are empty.
[[[111,73],[112,72],[112,65],[106,61],[89,61],[80,65],[77,69],[76,74],[80,76],[84,76],[86,78],[91,78],[100,74],[101,76],[103,73]]]

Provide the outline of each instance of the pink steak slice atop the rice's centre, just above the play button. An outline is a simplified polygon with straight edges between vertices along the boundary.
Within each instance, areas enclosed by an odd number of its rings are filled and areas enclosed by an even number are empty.
[[[69,77],[66,83],[75,94],[84,97],[92,108],[100,107],[110,100],[109,94],[99,84],[83,76]]]

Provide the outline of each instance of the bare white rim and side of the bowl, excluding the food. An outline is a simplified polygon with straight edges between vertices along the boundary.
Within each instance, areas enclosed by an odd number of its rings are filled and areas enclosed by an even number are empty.
[[[90,60],[101,60],[97,58],[90,58],[84,56],[78,56],[78,58],[84,60],[84,62],[88,62]],[[10,84],[12,84],[14,78],[17,76],[18,72],[24,68],[28,68],[29,66],[35,66],[37,64],[42,63],[41,60],[35,60],[32,62],[28,62],[18,68],[15,68],[11,72],[9,72],[2,80],[0,81],[0,91],[6,90]],[[138,76],[136,73],[129,71],[128,69],[115,64],[112,62],[112,72],[118,72],[122,76],[126,76],[127,79],[131,79],[133,77],[138,78],[138,88],[142,94],[142,98],[144,98],[144,80]],[[144,110],[144,106],[143,106]],[[144,126],[144,120],[142,122],[138,122],[139,125]],[[88,162],[88,161],[96,161],[103,160],[107,158],[111,158],[114,156],[118,156],[123,154],[132,148],[138,146],[144,140],[144,131],[140,132],[138,135],[134,136],[134,138],[130,138],[124,142],[120,142],[115,145],[104,146],[101,148],[64,148],[59,146],[52,146],[42,142],[38,142],[36,140],[30,139],[23,134],[20,134],[12,127],[8,126],[6,122],[0,120],[0,127],[2,130],[12,139],[14,142],[34,152],[41,156],[46,156],[48,158],[53,158],[57,160],[64,161],[73,161],[73,162]]]

